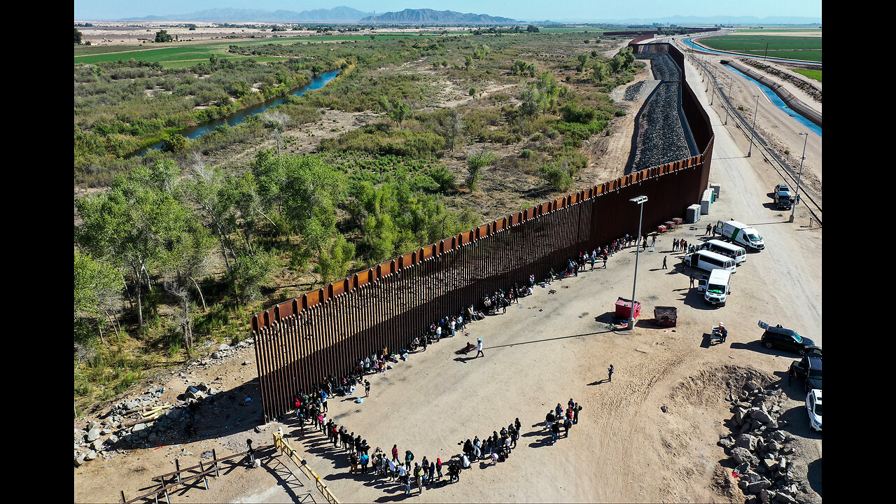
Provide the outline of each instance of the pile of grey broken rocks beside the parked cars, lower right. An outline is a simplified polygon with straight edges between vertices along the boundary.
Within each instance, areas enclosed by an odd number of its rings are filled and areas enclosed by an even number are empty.
[[[737,486],[751,495],[748,503],[804,502],[806,489],[793,469],[793,436],[779,430],[783,391],[762,388],[749,380],[732,403],[732,433],[719,439],[737,467]]]

